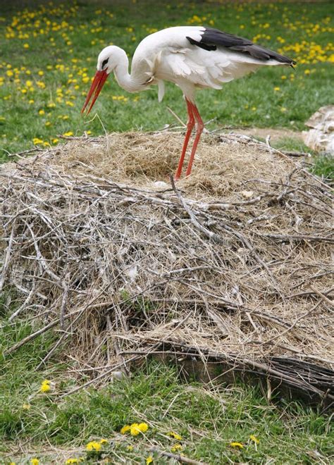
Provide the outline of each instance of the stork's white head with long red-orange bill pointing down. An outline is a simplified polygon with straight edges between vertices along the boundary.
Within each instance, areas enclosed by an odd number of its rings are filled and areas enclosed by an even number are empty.
[[[86,106],[89,104],[89,100],[91,99],[92,94],[95,91],[92,103],[89,106],[87,114],[89,113],[89,111],[92,110],[92,107],[95,101],[97,100],[97,97],[99,97],[99,93],[101,92],[104,82],[106,82],[106,78],[109,76],[111,71],[113,71],[116,68],[116,65],[118,63],[118,50],[118,46],[106,46],[106,48],[103,49],[97,57],[97,72],[95,73],[94,80],[92,82],[92,85],[90,86],[81,113],[85,111]]]

